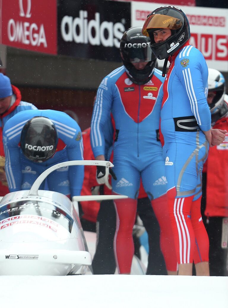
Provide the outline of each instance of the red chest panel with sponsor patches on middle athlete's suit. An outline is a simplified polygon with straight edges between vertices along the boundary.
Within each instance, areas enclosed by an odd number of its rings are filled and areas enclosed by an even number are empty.
[[[138,123],[153,111],[161,81],[153,76],[152,81],[139,86],[132,83],[127,74],[123,74],[117,80],[116,86],[126,113]]]

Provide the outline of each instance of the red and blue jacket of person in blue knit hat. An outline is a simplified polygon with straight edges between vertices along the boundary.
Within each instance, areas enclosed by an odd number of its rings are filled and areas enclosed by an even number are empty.
[[[29,110],[29,109],[37,109],[33,104],[23,102],[21,100],[21,92],[20,90],[11,85],[13,90],[13,95],[11,98],[10,107],[6,112],[4,112],[2,115],[0,115],[0,173],[5,172],[5,153],[4,153],[4,147],[2,143],[2,130],[4,125],[6,124],[6,121],[8,121],[12,116],[14,116],[16,113],[23,111],[23,110]],[[0,181],[0,195],[4,196],[6,193],[9,193],[8,185],[6,181]]]

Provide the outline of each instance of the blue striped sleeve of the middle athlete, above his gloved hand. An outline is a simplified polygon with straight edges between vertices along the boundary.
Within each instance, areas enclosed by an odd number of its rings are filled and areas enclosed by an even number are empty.
[[[91,120],[91,147],[93,155],[105,155],[106,122],[110,118],[113,100],[113,85],[110,78],[105,77],[97,90],[96,101]],[[109,139],[109,138],[108,138]]]

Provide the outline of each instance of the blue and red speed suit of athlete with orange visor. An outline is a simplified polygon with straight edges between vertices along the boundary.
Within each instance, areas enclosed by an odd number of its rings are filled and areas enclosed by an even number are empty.
[[[202,53],[186,43],[171,57],[163,86],[161,132],[178,263],[192,263],[193,255],[194,263],[208,261],[200,213],[202,167],[209,148],[202,131],[211,127],[207,78]]]

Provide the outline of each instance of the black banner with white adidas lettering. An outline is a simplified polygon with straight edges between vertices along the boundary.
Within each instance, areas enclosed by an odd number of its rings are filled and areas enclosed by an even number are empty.
[[[58,54],[120,62],[120,39],[130,28],[130,3],[65,1],[58,6]]]

